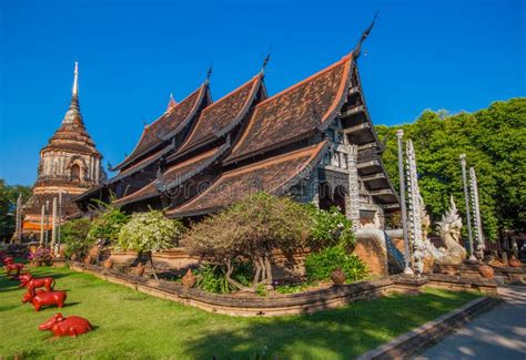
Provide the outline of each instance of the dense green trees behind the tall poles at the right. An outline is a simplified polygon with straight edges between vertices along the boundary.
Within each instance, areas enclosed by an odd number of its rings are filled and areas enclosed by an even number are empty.
[[[465,153],[468,166],[477,172],[486,236],[495,239],[505,229],[526,228],[526,99],[496,102],[475,113],[425,111],[413,124],[376,126],[386,144],[383,161],[395,188],[398,128],[415,145],[419,187],[433,220],[447,209],[449,195],[466,216],[458,161]]]

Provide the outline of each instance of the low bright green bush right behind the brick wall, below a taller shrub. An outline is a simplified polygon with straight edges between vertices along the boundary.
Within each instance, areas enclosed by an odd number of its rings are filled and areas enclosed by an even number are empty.
[[[340,267],[347,276],[346,282],[362,280],[367,276],[367,267],[343,246],[331,246],[305,258],[305,272],[308,282],[331,279],[331,274]]]

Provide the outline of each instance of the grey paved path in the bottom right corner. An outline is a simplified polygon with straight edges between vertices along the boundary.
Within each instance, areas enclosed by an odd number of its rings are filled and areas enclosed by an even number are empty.
[[[505,302],[414,359],[526,360],[526,286],[498,287]]]

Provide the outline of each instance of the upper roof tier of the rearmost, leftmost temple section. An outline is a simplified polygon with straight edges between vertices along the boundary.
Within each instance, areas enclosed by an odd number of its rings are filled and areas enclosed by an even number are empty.
[[[199,105],[203,99],[205,99],[206,92],[208,84],[203,84],[179,104],[169,107],[168,111],[152,124],[146,125],[135,148],[121,164],[115,166],[115,168],[127,166],[180,132],[195,115]]]

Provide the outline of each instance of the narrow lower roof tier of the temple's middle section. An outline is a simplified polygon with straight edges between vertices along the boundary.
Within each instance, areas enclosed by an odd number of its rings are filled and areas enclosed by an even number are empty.
[[[218,158],[224,151],[226,146],[219,146],[212,148],[203,154],[191,157],[182,163],[173,165],[163,172],[162,177],[154,179],[144,187],[138,189],[133,194],[124,196],[118,200],[115,204],[125,205],[135,203],[145,198],[150,198],[159,195],[162,191],[168,191],[172,187],[182,184],[188,178],[195,175],[198,172],[202,171],[204,167],[210,165],[213,161]]]

